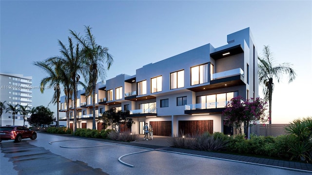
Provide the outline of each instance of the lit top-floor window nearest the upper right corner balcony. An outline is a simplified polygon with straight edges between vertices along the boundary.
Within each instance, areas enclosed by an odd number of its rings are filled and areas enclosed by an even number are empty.
[[[208,64],[191,68],[191,85],[208,83]]]

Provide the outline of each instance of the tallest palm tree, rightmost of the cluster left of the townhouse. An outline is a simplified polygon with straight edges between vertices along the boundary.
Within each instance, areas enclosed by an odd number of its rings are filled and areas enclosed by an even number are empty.
[[[84,57],[85,80],[88,81],[86,94],[92,95],[93,104],[93,129],[96,129],[96,86],[98,78],[104,80],[106,71],[110,69],[113,63],[113,57],[108,53],[107,47],[102,47],[96,43],[95,36],[91,33],[90,26],[85,26],[85,35],[80,36],[70,30],[70,33],[82,45],[82,56]],[[104,66],[106,64],[106,67]]]

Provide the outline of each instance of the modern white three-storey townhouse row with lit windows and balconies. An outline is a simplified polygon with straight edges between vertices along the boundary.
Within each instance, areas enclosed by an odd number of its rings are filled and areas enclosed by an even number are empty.
[[[206,44],[145,65],[136,75],[120,74],[106,85],[98,84],[97,115],[112,107],[129,110],[135,122],[131,132],[137,134],[143,134],[145,123],[159,136],[233,134],[233,128],[223,124],[222,111],[238,95],[258,97],[257,51],[249,28],[227,35],[227,42],[218,48]],[[86,99],[83,94],[78,98]],[[92,116],[91,101],[80,109]],[[97,123],[101,129],[101,121]],[[78,128],[90,126],[92,120],[79,117]]]

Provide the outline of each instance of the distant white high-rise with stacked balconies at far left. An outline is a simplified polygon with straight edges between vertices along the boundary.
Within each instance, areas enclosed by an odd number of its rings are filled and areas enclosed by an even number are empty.
[[[12,73],[0,73],[0,102],[4,103],[6,107],[8,105],[16,106],[16,108],[20,108],[22,106],[28,106],[32,108],[32,77],[31,76],[23,76],[22,74],[12,74]],[[30,115],[25,116],[30,117]],[[13,120],[12,111],[6,112],[3,111],[1,117],[1,125],[24,125],[23,115],[20,113],[15,114],[15,119]],[[25,126],[28,123],[25,122]]]

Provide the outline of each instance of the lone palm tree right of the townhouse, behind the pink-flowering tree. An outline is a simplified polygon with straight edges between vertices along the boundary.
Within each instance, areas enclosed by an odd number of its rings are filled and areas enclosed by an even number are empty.
[[[273,79],[279,83],[282,74],[288,74],[288,83],[291,83],[296,76],[294,70],[289,63],[274,65],[273,55],[269,46],[263,47],[264,58],[258,56],[258,75],[259,82],[263,85],[264,100],[269,101],[269,123],[272,123],[272,93],[274,89]]]

